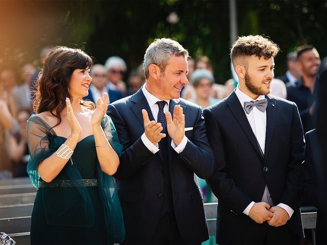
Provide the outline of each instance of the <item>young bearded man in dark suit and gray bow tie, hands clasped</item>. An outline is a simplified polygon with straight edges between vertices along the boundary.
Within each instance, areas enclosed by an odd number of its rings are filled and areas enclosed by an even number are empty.
[[[296,105],[267,95],[279,47],[262,36],[231,48],[238,87],[203,115],[215,155],[217,243],[294,244],[303,236],[298,174],[304,142]]]

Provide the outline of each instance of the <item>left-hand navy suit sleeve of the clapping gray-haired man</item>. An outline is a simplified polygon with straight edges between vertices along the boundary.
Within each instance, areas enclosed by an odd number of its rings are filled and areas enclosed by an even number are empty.
[[[144,145],[141,136],[136,141],[131,142],[130,129],[114,106],[109,105],[107,114],[111,117],[119,141],[123,145],[120,164],[114,178],[125,180],[132,177],[139,168],[143,167],[155,155]]]

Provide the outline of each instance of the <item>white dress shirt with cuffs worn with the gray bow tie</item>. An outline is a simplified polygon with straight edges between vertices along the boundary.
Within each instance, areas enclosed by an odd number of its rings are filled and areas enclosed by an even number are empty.
[[[256,140],[258,140],[258,143],[260,145],[260,148],[262,150],[262,153],[265,154],[265,141],[266,141],[266,126],[267,126],[267,115],[266,115],[266,110],[264,112],[260,111],[258,108],[255,106],[253,107],[252,111],[247,114],[245,109],[244,109],[244,102],[250,102],[250,101],[256,101],[256,100],[263,100],[265,99],[264,95],[260,95],[258,99],[253,100],[250,96],[247,94],[243,93],[239,85],[237,86],[235,93],[242,105],[242,108],[244,110],[244,113],[249,121],[249,124],[251,126],[251,129],[256,137]],[[264,195],[270,195],[268,186],[266,185]],[[252,201],[243,211],[244,214],[249,215],[250,209],[255,203]],[[269,204],[269,203],[268,203]],[[271,204],[269,204],[271,205]],[[272,204],[273,205],[273,204]],[[283,208],[286,210],[288,213],[289,217],[291,218],[292,214],[294,213],[294,210],[289,207],[288,205],[284,203],[279,203],[277,206]]]

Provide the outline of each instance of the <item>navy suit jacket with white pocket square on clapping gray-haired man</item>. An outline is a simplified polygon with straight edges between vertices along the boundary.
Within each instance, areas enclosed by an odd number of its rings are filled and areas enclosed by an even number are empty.
[[[214,173],[214,158],[209,146],[202,110],[183,99],[170,101],[183,107],[188,143],[177,154],[170,146],[168,136],[168,161],[174,212],[179,232],[186,243],[200,243],[208,239],[202,195],[196,175],[207,179]],[[141,136],[144,133],[142,109],[154,120],[142,89],[135,94],[109,105],[119,140],[123,144],[120,165],[114,177],[121,201],[126,228],[126,243],[147,243],[156,231],[160,219],[162,189],[164,188],[164,157],[162,151],[153,154],[146,148]]]

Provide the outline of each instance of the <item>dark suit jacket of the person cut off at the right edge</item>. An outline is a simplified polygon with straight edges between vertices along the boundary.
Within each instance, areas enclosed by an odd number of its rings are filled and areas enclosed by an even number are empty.
[[[322,161],[321,145],[317,131],[306,134],[305,161],[301,165],[300,189],[306,201],[318,208],[316,224],[317,244],[327,244],[327,190],[324,180],[327,173],[323,171],[326,163]]]

